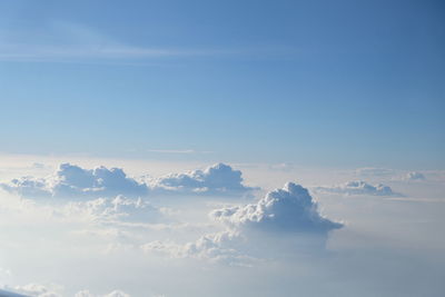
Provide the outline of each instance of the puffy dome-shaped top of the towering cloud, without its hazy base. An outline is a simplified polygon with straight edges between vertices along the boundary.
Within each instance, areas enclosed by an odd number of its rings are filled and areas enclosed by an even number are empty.
[[[217,209],[210,215],[236,227],[270,231],[326,232],[343,227],[320,216],[308,190],[293,182],[268,192],[257,204]]]

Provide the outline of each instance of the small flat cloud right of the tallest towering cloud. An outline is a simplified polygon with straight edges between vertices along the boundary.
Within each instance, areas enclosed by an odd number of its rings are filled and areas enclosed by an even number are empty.
[[[400,196],[400,194],[394,192],[389,186],[382,184],[373,186],[363,180],[348,181],[333,187],[317,187],[315,190],[346,195]]]

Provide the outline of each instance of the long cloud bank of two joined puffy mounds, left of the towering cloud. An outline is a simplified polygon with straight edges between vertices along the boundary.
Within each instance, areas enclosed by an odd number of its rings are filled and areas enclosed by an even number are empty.
[[[1,182],[0,188],[22,197],[97,198],[144,197],[157,194],[207,194],[239,195],[254,188],[243,185],[241,171],[225,164],[216,164],[205,170],[170,174],[147,182],[130,178],[120,168],[83,169],[71,164],[61,164],[58,170],[46,178],[22,177]]]

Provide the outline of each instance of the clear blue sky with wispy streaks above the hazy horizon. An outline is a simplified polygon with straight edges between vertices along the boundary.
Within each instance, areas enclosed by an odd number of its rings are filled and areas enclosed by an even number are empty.
[[[3,152],[445,166],[442,1],[0,11]]]

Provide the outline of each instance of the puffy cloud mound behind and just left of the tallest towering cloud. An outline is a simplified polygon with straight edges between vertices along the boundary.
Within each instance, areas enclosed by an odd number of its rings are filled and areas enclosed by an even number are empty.
[[[205,170],[170,174],[151,181],[151,188],[161,192],[238,195],[254,188],[243,185],[241,171],[225,164]]]

